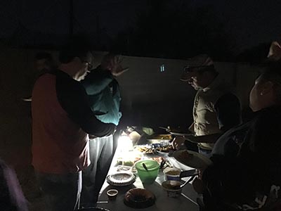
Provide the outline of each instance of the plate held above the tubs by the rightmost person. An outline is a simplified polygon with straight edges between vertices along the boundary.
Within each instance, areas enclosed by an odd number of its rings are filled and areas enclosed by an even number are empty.
[[[209,158],[194,151],[187,151],[187,150],[175,151],[173,155],[174,158],[178,160],[178,162],[181,162],[183,165],[198,170],[204,169],[209,165],[213,164],[213,162],[211,162]]]

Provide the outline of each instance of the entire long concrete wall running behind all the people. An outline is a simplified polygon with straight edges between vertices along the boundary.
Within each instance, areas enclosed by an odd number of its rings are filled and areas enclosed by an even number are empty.
[[[0,48],[0,157],[17,165],[31,159],[30,103],[21,98],[31,94],[37,75],[33,67],[36,53]],[[57,56],[56,52],[51,53]],[[96,64],[103,54],[94,53]],[[183,66],[187,65],[185,60],[124,56],[123,65],[130,70],[118,78],[122,89],[122,125],[188,127],[195,91],[179,80]],[[165,65],[164,72],[160,72],[160,65]],[[242,106],[247,107],[257,70],[235,63],[215,66],[227,82],[235,85]]]

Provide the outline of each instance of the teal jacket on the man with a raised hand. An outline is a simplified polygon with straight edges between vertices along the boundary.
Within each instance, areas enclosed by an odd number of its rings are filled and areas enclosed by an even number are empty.
[[[120,107],[119,84],[110,71],[101,70],[100,66],[86,75],[81,81],[93,113],[98,120],[105,123],[119,124],[122,113]]]

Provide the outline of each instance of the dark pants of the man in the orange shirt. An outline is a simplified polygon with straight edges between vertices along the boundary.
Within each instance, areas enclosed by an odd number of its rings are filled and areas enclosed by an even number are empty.
[[[44,198],[44,207],[41,210],[73,211],[79,208],[81,172],[68,174],[37,172],[37,179]]]

